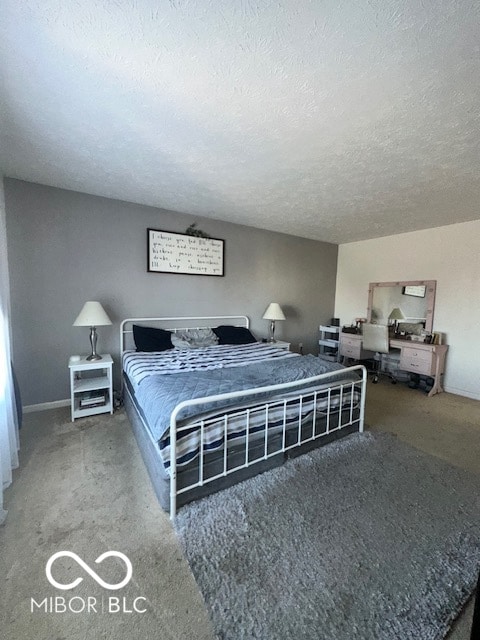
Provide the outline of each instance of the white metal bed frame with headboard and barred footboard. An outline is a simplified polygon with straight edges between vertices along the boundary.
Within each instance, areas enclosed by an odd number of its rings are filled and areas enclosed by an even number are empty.
[[[208,321],[208,324],[205,324]],[[125,351],[131,350],[133,348],[133,344],[130,347],[127,347],[127,342],[130,341],[133,343],[131,334],[133,333],[133,324],[142,324],[148,323],[148,326],[160,326],[163,329],[168,329],[171,331],[182,331],[186,329],[200,329],[207,328],[212,326],[217,326],[220,322],[229,322],[230,324],[235,324],[235,326],[242,326],[245,328],[249,327],[249,319],[247,316],[189,316],[189,317],[161,317],[161,318],[128,318],[123,320],[120,325],[120,349],[121,349],[121,357],[123,361],[123,354]],[[169,326],[170,324],[175,324],[181,322],[182,326]],[[199,323],[202,324],[199,324]],[[342,377],[346,372],[357,371],[360,376],[358,381],[343,381]],[[330,382],[328,386],[325,384],[322,385],[322,380],[327,376],[338,377],[337,382]],[[173,410],[170,417],[170,518],[173,520],[175,518],[177,512],[177,497],[183,493],[191,491],[196,487],[203,487],[204,485],[211,483],[219,478],[225,477],[232,473],[235,473],[241,469],[246,469],[256,463],[262,462],[264,460],[268,460],[269,458],[279,454],[286,453],[289,450],[295,449],[304,445],[306,443],[312,442],[314,440],[320,440],[322,437],[325,438],[333,434],[336,431],[340,431],[342,429],[346,429],[347,427],[352,427],[354,425],[358,426],[358,430],[360,432],[364,429],[364,416],[365,416],[365,392],[366,392],[366,382],[367,382],[367,373],[366,369],[362,365],[356,365],[353,367],[348,367],[337,372],[330,372],[327,374],[322,374],[318,376],[313,376],[311,378],[305,378],[303,380],[295,381],[295,382],[287,382],[277,385],[268,385],[264,387],[258,387],[254,389],[236,391],[232,393],[224,393],[218,395],[212,395],[204,398],[194,398],[192,400],[186,400],[179,403],[175,409]],[[122,372],[122,385],[123,385],[123,372]],[[309,386],[308,390],[299,389],[298,393],[294,393],[295,388]],[[318,387],[312,389],[312,385]],[[122,387],[123,389],[123,387]],[[124,392],[129,393],[128,389],[123,389]],[[288,393],[288,398],[279,399],[278,395],[281,393]],[[334,393],[332,393],[334,392]],[[360,399],[358,401],[355,400],[356,393],[360,394]],[[203,417],[195,422],[189,422],[188,425],[182,426],[178,424],[178,416],[179,414],[187,407],[199,407],[199,413],[201,413],[201,407],[205,406],[211,402],[224,401],[224,400],[232,400],[238,399],[245,404],[248,402],[248,398],[255,396],[257,394],[266,394],[271,393],[277,396],[274,400],[270,401],[260,401],[258,404],[254,404],[254,406],[245,406],[236,409],[235,407],[230,408],[228,412],[226,412],[221,420],[223,421],[223,433],[224,433],[224,444],[223,444],[223,469],[220,473],[216,473],[213,476],[204,477],[204,465],[205,460],[208,453],[204,451],[204,443],[205,432],[208,429],[208,426],[211,422],[218,422],[218,415],[214,418]],[[346,394],[350,394],[350,400],[346,404],[343,402],[343,398]],[[293,394],[293,395],[292,395]],[[337,395],[338,394],[338,395]],[[335,401],[335,398],[338,398],[338,401]],[[322,406],[321,410],[317,408],[317,404],[320,400],[325,404],[326,407]],[[297,437],[293,442],[287,441],[287,431],[290,434],[293,433],[292,426],[288,426],[287,428],[287,404],[291,402],[298,401],[298,419],[297,422]],[[309,420],[311,421],[311,433],[305,434],[305,418],[302,417],[302,407],[306,403],[313,403],[313,410],[311,414],[309,414]],[[275,448],[273,451],[269,450],[269,439],[271,438],[271,430],[268,427],[269,421],[269,412],[273,409],[283,407],[283,427],[280,431],[281,434],[281,446]],[[354,409],[357,409],[355,413]],[[251,416],[255,412],[264,412],[265,413],[265,424],[263,428],[263,455],[250,460],[250,420]],[[337,424],[332,423],[334,421],[331,420],[333,415],[337,416]],[[344,415],[345,414],[345,415]],[[239,416],[245,420],[246,425],[246,435],[244,441],[245,447],[245,456],[244,462],[238,464],[236,466],[229,467],[229,445],[227,440],[228,434],[228,425],[229,420],[232,419],[232,416],[235,416],[237,419]],[[323,417],[324,419],[324,430],[320,433],[316,432],[316,424],[317,417]],[[143,417],[139,414],[139,417],[143,423],[144,428],[147,430],[147,433],[150,433],[148,426],[145,423]],[[291,418],[289,420],[291,423]],[[309,422],[310,424],[310,422]],[[177,436],[182,430],[192,429],[192,427],[197,427],[200,431],[200,447],[199,447],[199,461],[198,461],[198,480],[188,486],[178,488],[177,487],[177,456],[176,456],[176,445],[177,445]],[[308,427],[310,429],[310,427]],[[276,435],[278,435],[278,430]],[[259,438],[256,439],[257,445],[259,442]],[[217,452],[218,453],[218,452]]]

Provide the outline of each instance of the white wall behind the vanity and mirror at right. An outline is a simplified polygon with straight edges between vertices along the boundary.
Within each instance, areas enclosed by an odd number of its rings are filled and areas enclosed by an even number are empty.
[[[370,282],[436,280],[434,331],[446,334],[446,391],[480,400],[480,221],[339,247],[335,316],[366,316]]]

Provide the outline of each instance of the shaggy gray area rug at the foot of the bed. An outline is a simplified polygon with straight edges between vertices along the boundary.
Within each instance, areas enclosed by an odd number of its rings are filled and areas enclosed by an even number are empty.
[[[218,638],[434,640],[480,565],[480,476],[354,434],[183,507]]]

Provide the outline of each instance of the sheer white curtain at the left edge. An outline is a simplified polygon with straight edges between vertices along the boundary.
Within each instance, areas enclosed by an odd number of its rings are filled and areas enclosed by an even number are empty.
[[[18,466],[18,422],[10,354],[10,287],[8,279],[7,228],[3,178],[0,176],[0,524],[7,512],[3,491]]]

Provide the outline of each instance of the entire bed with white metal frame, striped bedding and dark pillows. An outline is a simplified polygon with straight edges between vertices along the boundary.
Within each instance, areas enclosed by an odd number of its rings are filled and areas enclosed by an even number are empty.
[[[129,318],[122,395],[163,509],[363,431],[366,371],[258,342],[247,316]]]

